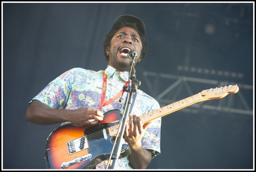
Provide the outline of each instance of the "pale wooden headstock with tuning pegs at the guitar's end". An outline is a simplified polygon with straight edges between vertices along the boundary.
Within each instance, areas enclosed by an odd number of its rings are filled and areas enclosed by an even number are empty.
[[[202,100],[210,100],[210,99],[220,99],[225,97],[228,94],[235,94],[239,90],[237,85],[229,85],[225,87],[219,87],[215,89],[203,90],[199,94],[202,97]]]

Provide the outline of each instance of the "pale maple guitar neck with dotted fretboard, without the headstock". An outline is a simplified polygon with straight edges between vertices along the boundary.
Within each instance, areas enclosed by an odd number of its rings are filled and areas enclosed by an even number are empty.
[[[206,100],[207,99],[202,99],[202,96],[200,95],[200,93],[198,93],[198,94],[192,95],[191,97],[182,99],[178,102],[171,103],[170,105],[161,107],[158,110],[154,110],[147,114],[139,116],[139,118],[141,119],[142,123],[144,124],[144,123],[150,122],[151,120],[154,120],[154,119],[160,118],[162,116],[168,115],[172,112],[178,111],[184,107],[193,105],[194,103],[197,103],[200,101],[206,101]],[[108,128],[110,136],[117,135],[118,127],[119,127],[119,124]]]

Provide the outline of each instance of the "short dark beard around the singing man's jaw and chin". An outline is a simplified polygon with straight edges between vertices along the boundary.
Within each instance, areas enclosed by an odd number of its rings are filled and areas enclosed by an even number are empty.
[[[119,53],[119,48],[111,48],[109,52],[109,62],[108,64],[119,71],[130,71],[131,65],[133,63],[132,60],[128,60],[127,58],[119,59],[117,54]],[[139,61],[139,55],[135,58],[135,64]]]

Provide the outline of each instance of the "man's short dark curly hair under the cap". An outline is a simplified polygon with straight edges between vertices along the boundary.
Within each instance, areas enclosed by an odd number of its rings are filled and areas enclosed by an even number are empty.
[[[129,27],[135,29],[139,33],[139,37],[141,38],[141,43],[142,43],[142,50],[141,50],[141,58],[144,58],[147,54],[147,41],[141,32],[139,32],[137,26],[135,23],[130,23],[130,22],[123,22],[119,25],[119,27],[116,27],[112,30],[109,31],[109,33],[106,34],[106,39],[103,42],[103,47],[104,47],[104,56],[106,57],[106,60],[109,61],[109,56],[106,53],[106,48],[110,47],[110,41],[113,38],[114,34],[121,28],[123,27]]]

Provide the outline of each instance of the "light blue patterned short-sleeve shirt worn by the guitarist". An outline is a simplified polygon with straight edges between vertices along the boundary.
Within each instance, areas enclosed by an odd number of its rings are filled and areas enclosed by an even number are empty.
[[[103,70],[93,71],[82,68],[70,69],[50,82],[32,100],[37,99],[54,109],[75,110],[82,107],[90,107],[103,113],[113,109],[118,109],[123,113],[127,93],[123,94],[121,102],[119,102],[120,96],[109,105],[101,107],[103,72]],[[107,101],[122,90],[129,80],[129,72],[119,72],[115,68],[107,66],[105,74],[107,75],[105,101]],[[141,116],[158,108],[160,108],[159,103],[154,98],[138,89],[131,111],[132,114]],[[70,122],[65,122],[61,125],[68,123]],[[161,118],[157,118],[147,127],[142,138],[143,148],[153,150],[154,155],[160,154],[160,127]],[[96,168],[105,169],[106,164],[107,161],[103,161]],[[128,156],[118,159],[117,166],[117,169],[132,169]]]

